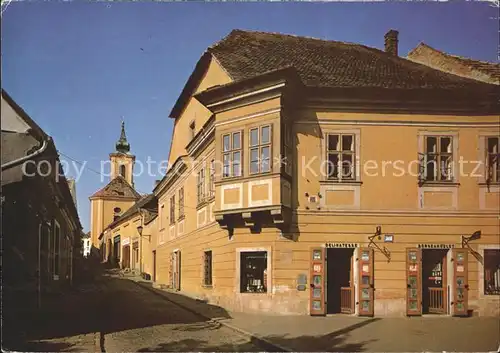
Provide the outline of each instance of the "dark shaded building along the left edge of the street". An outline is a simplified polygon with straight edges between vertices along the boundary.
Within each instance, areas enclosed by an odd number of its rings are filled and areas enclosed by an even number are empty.
[[[82,226],[54,141],[4,90],[1,229],[8,320],[72,283]]]

